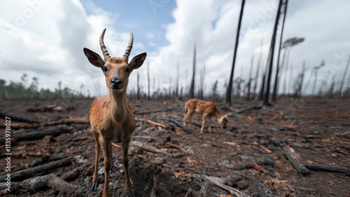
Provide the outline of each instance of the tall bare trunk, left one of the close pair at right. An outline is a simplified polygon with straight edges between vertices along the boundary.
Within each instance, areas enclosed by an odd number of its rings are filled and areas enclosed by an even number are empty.
[[[277,33],[277,27],[279,25],[279,16],[281,15],[282,4],[283,4],[283,0],[279,0],[279,8],[277,9],[276,21],[274,22],[274,32],[272,34],[272,39],[271,39],[271,55],[269,58],[269,72],[267,74],[266,92],[263,100],[264,105],[269,105],[269,88],[270,88],[269,86],[271,83],[272,65],[274,62],[274,45],[276,43],[276,33]]]

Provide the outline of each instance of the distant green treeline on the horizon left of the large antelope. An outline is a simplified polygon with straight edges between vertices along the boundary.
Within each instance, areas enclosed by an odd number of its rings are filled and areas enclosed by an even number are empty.
[[[39,90],[38,78],[33,77],[29,81],[27,74],[23,74],[21,81],[9,81],[0,79],[0,99],[57,99],[57,98],[84,98],[83,93],[70,88],[61,88],[59,81],[55,91],[50,89]]]

